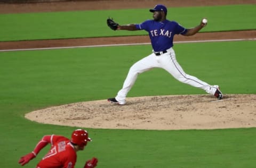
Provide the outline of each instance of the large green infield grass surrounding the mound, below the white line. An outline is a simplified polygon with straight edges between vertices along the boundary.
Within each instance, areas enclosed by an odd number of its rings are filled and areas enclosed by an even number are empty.
[[[183,69],[224,94],[255,94],[256,41],[189,43],[174,46]],[[113,54],[113,51],[115,53]],[[106,99],[122,87],[130,66],[150,45],[49,51],[0,52],[0,165],[20,167],[20,156],[46,134],[69,137],[74,127],[39,124],[23,116],[33,110]],[[164,70],[139,75],[129,97],[205,94]],[[107,103],[107,102],[106,102]],[[93,141],[78,153],[76,167],[93,156],[98,167],[254,167],[256,129],[109,130],[90,129]],[[48,148],[25,167],[35,167]]]

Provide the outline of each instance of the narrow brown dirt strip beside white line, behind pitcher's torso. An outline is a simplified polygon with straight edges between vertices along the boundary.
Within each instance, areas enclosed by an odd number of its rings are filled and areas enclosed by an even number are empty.
[[[202,32],[194,36],[174,36],[174,45],[178,41],[195,40],[255,40],[256,30],[224,31],[224,32]],[[38,49],[53,47],[79,47],[100,46],[115,44],[141,44],[150,43],[149,36],[126,36],[126,37],[99,37],[79,39],[55,39],[55,40],[28,40],[28,41],[5,41],[0,42],[1,50]],[[151,51],[151,48],[149,48]]]

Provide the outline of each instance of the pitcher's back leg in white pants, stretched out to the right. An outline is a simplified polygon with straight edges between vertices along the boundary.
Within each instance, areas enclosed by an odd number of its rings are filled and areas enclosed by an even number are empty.
[[[197,88],[201,88],[211,95],[214,95],[215,91],[218,88],[218,86],[211,86],[208,83],[199,80],[192,75],[186,74],[181,68],[180,64],[177,62],[174,51],[171,51],[169,55],[166,54],[165,58],[163,59],[162,68],[172,74],[173,77],[180,82],[187,83],[188,85]]]

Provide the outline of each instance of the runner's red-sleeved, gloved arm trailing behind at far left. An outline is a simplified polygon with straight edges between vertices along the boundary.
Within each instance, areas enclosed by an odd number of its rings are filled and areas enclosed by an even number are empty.
[[[47,145],[47,144],[50,144],[51,143],[51,138],[52,136],[44,136],[36,145],[35,149],[25,155],[25,156],[22,156],[19,160],[19,163],[23,166],[25,164],[27,164],[31,159],[35,158],[36,155]]]

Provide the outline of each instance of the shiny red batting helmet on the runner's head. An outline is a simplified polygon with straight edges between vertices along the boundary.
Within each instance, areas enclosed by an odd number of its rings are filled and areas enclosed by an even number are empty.
[[[78,146],[85,146],[87,144],[87,141],[91,141],[91,138],[88,137],[87,131],[77,129],[72,132],[70,141]]]

